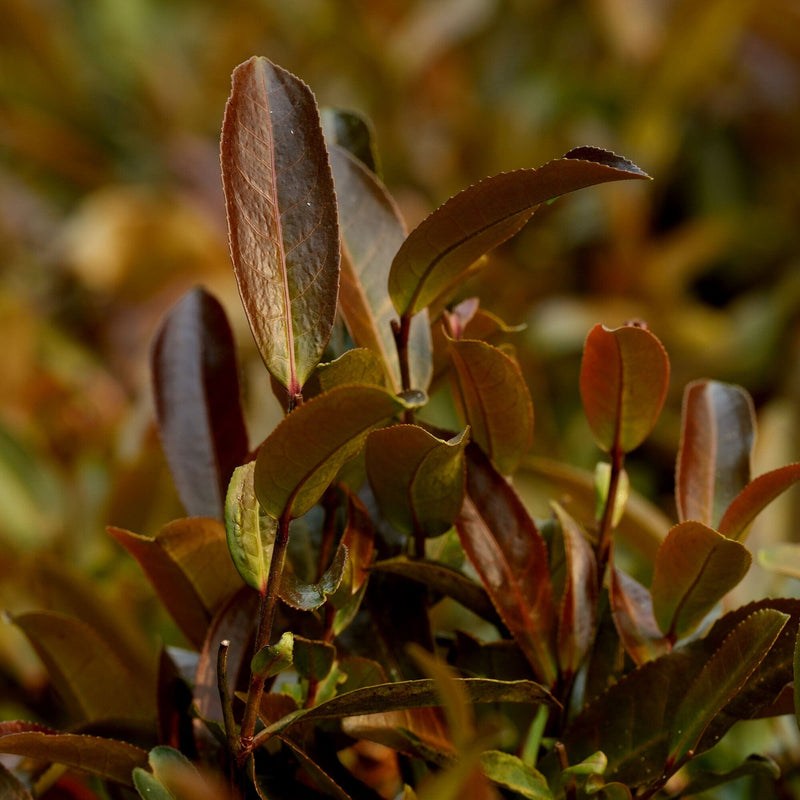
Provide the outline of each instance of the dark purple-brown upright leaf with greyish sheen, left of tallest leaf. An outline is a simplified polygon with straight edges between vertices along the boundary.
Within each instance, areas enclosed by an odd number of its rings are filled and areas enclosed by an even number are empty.
[[[190,516],[222,519],[233,470],[247,456],[236,353],[225,311],[192,289],[164,318],[151,354],[156,419]]]

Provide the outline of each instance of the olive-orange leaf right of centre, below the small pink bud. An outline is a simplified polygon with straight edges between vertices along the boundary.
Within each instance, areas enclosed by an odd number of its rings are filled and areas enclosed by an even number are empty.
[[[450,357],[472,439],[500,472],[511,474],[533,439],[533,403],[519,366],[475,340],[451,342]]]

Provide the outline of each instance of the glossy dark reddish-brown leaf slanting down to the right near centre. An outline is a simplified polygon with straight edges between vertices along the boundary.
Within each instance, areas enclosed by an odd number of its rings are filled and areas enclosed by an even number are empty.
[[[468,448],[461,544],[506,627],[549,686],[556,680],[556,617],[544,539],[508,482]]]

